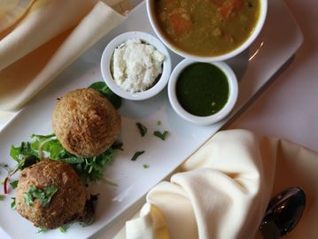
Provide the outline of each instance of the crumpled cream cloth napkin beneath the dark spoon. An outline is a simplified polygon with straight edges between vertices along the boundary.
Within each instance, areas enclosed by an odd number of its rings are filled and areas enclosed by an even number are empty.
[[[151,189],[115,238],[262,238],[258,227],[270,197],[291,186],[305,189],[306,210],[284,238],[318,238],[317,169],[318,155],[299,145],[221,131]]]

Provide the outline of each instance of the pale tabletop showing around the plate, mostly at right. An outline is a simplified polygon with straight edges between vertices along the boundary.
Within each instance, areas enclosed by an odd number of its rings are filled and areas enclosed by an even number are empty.
[[[245,128],[274,135],[318,152],[318,30],[315,26],[318,1],[285,0],[285,3],[299,24],[304,42],[291,61],[275,75],[275,81],[226,128]],[[133,211],[106,228],[98,238],[112,235]],[[0,232],[0,238],[7,237]]]

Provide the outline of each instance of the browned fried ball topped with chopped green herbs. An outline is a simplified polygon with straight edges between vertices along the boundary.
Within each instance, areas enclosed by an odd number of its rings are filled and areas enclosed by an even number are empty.
[[[27,204],[29,186],[44,190],[57,187],[46,206],[39,198]],[[43,159],[22,170],[19,175],[16,205],[19,214],[34,223],[35,227],[53,229],[81,219],[86,203],[85,187],[72,166],[56,160]]]

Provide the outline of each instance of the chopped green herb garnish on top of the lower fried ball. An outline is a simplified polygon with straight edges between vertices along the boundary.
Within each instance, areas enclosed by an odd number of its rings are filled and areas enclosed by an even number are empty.
[[[28,186],[28,191],[24,193],[27,205],[33,205],[34,199],[40,199],[40,204],[46,207],[50,204],[50,198],[58,191],[57,186],[49,185],[42,189],[36,189],[35,185]]]

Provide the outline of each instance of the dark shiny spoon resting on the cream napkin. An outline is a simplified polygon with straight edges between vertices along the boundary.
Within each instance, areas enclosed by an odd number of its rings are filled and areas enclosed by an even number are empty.
[[[304,212],[306,196],[298,187],[284,189],[268,204],[260,223],[260,232],[265,239],[276,239],[288,234],[297,226]]]

